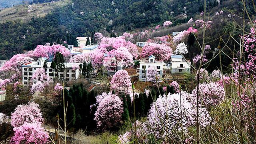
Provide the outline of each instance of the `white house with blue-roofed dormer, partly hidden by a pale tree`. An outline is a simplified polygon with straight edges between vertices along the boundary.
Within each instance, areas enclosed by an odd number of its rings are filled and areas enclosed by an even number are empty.
[[[148,57],[148,60],[140,60],[140,67],[139,74],[140,74],[140,81],[146,81],[146,74],[148,72],[148,69],[155,67],[157,73],[162,78],[163,76],[163,66],[164,63],[162,61],[156,61],[156,57],[151,55]]]

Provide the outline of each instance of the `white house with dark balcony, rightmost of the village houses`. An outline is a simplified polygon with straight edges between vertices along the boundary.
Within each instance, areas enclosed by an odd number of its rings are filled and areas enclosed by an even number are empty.
[[[171,56],[171,68],[172,73],[190,73],[190,60],[184,59],[180,55],[172,55]],[[188,63],[187,63],[187,62]]]

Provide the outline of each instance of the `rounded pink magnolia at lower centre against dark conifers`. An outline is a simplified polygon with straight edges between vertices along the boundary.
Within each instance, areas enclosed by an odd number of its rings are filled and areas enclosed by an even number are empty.
[[[95,112],[98,130],[115,130],[122,123],[123,102],[116,95],[108,94],[103,98]]]

